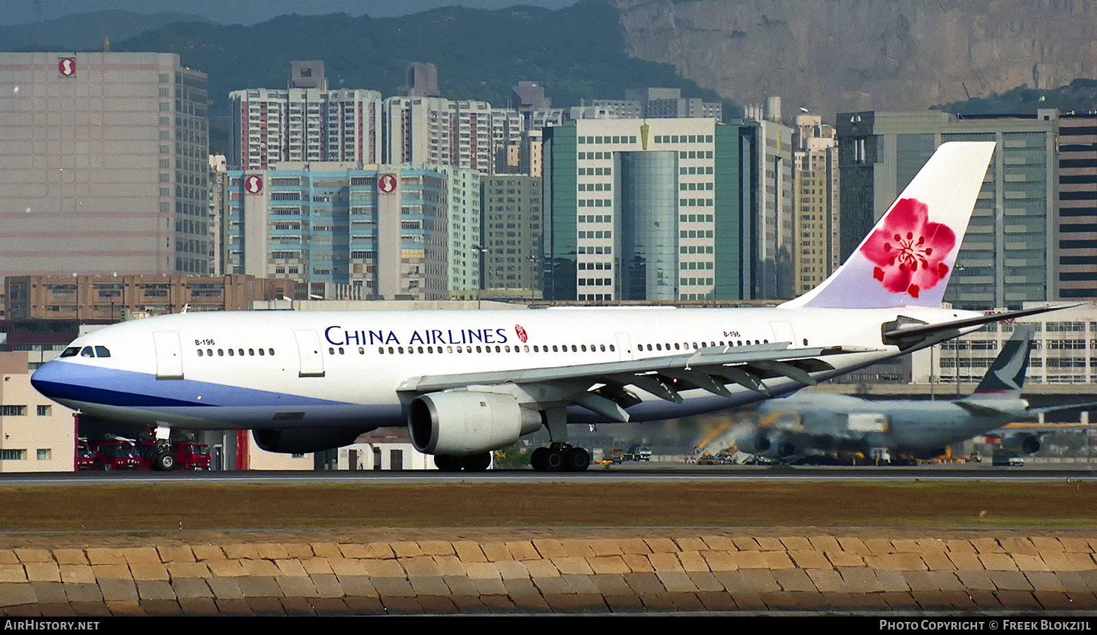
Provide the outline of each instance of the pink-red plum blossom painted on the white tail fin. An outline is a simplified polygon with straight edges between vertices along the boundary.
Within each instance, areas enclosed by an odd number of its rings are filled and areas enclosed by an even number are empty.
[[[891,293],[918,297],[949,273],[943,261],[955,247],[955,233],[941,223],[929,223],[928,216],[929,208],[921,201],[900,199],[883,228],[861,246],[861,253],[875,264],[872,276]]]

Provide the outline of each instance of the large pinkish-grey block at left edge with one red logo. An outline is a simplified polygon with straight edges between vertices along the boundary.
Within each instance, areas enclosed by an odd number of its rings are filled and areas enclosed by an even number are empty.
[[[206,76],[0,53],[0,275],[210,273]]]

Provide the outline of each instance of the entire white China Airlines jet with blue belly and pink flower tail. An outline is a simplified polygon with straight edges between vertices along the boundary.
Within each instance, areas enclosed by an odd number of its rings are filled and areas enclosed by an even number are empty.
[[[545,427],[533,466],[581,470],[568,423],[742,406],[1049,310],[941,308],[993,151],[942,145],[834,275],[777,307],[177,314],[81,337],[32,383],[161,444],[172,427],[250,429],[303,453],[408,426],[440,468],[483,469]]]

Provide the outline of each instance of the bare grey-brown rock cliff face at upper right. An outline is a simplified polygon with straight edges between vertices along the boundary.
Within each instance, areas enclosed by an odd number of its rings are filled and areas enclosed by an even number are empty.
[[[780,95],[787,115],[1097,78],[1097,0],[615,1],[630,55],[740,104]]]

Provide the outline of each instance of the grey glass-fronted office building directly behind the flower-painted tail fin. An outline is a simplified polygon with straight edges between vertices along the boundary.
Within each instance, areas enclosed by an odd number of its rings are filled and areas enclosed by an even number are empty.
[[[1058,113],[965,116],[941,112],[839,114],[842,258],[860,245],[937,147],[997,141],[945,301],[960,308],[1020,308],[1058,297]]]

